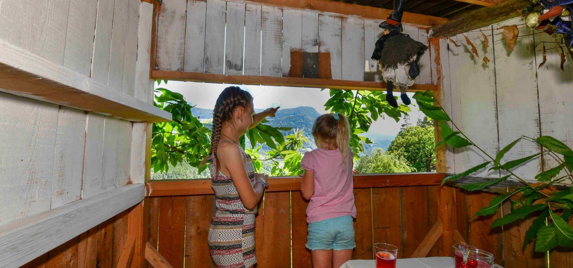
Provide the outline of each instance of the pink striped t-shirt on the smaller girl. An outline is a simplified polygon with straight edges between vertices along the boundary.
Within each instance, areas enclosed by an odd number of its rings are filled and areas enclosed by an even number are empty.
[[[348,167],[340,150],[315,149],[304,153],[300,166],[314,173],[315,192],[308,203],[307,222],[352,215],[356,218],[354,205],[354,181],[352,180],[352,153],[348,155]]]

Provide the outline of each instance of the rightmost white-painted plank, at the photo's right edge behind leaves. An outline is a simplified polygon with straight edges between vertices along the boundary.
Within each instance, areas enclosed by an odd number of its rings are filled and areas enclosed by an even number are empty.
[[[560,39],[560,38],[559,38]],[[560,42],[547,34],[535,35],[535,43],[542,41]],[[560,49],[553,49],[555,43],[545,43],[547,51],[547,61],[537,69],[537,79],[539,79],[539,110],[541,122],[541,135],[550,135],[567,146],[573,147],[573,67],[571,58],[568,56],[564,63],[564,71],[561,70]],[[535,49],[535,66],[543,61],[543,44]],[[544,156],[545,170],[558,165],[558,162],[551,155]],[[566,175],[565,171],[559,177]]]

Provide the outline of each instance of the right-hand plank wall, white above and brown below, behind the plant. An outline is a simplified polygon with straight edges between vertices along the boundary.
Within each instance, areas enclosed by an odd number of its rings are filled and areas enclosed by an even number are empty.
[[[504,25],[518,25],[520,37],[513,51],[508,50],[503,38]],[[446,111],[453,121],[488,154],[495,155],[504,146],[527,135],[532,138],[552,135],[573,146],[573,70],[567,55],[564,70],[560,70],[559,49],[555,44],[545,43],[547,62],[542,61],[541,41],[554,42],[550,35],[535,34],[523,25],[520,18],[510,19],[496,25],[464,33],[477,47],[479,57],[472,54],[464,35],[441,40],[442,89]],[[488,38],[485,51],[483,34]],[[488,57],[486,65],[482,58]],[[539,153],[535,144],[522,141],[506,154],[507,160]],[[469,149],[448,148],[446,166],[448,173],[460,173],[485,161],[480,152]],[[555,166],[551,157],[538,157],[516,169],[516,174],[534,181],[541,170]],[[499,177],[499,173],[481,171],[478,177]],[[458,230],[470,244],[496,254],[505,267],[545,267],[543,254],[534,253],[533,245],[522,252],[523,236],[531,225],[531,219],[520,224],[490,230],[492,221],[509,213],[509,204],[504,204],[497,215],[489,218],[472,218],[481,206],[489,204],[491,194],[464,193],[457,191]],[[483,220],[483,221],[482,221]],[[503,254],[502,254],[503,253]],[[556,251],[551,255],[551,266],[573,267],[571,253]]]

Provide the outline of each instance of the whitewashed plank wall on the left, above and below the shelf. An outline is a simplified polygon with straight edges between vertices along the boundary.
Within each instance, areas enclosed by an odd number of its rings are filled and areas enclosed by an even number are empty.
[[[2,1],[0,39],[134,96],[139,6]],[[131,122],[6,93],[0,107],[0,223],[128,183]]]

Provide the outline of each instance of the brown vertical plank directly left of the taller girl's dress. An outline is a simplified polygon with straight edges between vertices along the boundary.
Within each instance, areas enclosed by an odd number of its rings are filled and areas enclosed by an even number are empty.
[[[207,237],[215,214],[214,195],[188,196],[185,203],[185,266],[214,267]]]

